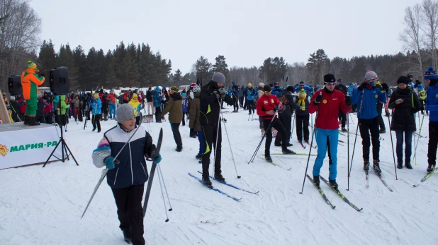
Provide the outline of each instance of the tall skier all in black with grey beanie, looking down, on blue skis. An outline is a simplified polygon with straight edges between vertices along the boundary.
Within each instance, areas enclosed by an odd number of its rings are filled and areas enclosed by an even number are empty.
[[[215,148],[215,173],[214,178],[218,181],[225,181],[220,169],[221,145],[222,145],[222,131],[220,126],[220,100],[225,100],[225,103],[232,105],[232,98],[225,95],[225,76],[223,73],[217,72],[213,74],[210,82],[203,85],[201,88],[201,131],[205,149],[202,155],[202,181],[206,186],[211,186],[210,178],[208,177],[208,168],[210,166],[210,155]]]

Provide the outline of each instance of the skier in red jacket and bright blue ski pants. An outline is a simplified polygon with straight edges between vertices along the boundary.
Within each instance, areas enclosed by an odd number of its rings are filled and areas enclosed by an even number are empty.
[[[325,87],[313,95],[309,104],[309,113],[317,112],[315,117],[315,140],[318,145],[318,156],[313,165],[313,183],[319,186],[320,170],[327,153],[327,146],[330,151],[331,164],[329,166],[330,185],[337,189],[337,139],[339,138],[338,115],[339,110],[347,114],[345,95],[335,90],[336,79],[333,74],[324,76]],[[328,145],[327,145],[328,143]]]

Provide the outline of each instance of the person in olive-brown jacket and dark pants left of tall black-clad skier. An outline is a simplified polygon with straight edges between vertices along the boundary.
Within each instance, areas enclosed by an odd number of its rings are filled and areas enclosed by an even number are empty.
[[[177,152],[181,152],[182,139],[181,134],[179,133],[179,124],[181,124],[181,120],[183,119],[182,98],[178,92],[178,87],[176,86],[172,86],[172,88],[170,88],[170,97],[166,108],[164,108],[164,111],[161,114],[161,117],[167,113],[169,113],[169,122],[172,128],[172,133],[174,133],[174,140],[176,143],[175,150]]]

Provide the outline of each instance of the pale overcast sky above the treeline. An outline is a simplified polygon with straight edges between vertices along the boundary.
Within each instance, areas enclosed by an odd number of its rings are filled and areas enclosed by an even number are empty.
[[[307,61],[316,49],[332,59],[402,50],[407,6],[420,0],[33,0],[43,20],[41,40],[115,49],[120,41],[149,43],[186,73],[204,56],[231,66],[261,66],[283,56]]]

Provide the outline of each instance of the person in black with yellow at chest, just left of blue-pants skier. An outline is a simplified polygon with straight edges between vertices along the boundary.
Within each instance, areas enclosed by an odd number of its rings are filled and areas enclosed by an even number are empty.
[[[296,139],[299,143],[302,143],[304,138],[304,142],[309,143],[309,96],[304,89],[301,89],[300,92],[298,92],[298,100],[296,104],[298,105],[298,109],[296,109],[295,112]]]

